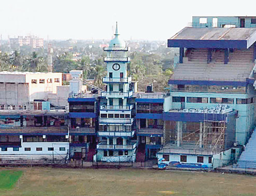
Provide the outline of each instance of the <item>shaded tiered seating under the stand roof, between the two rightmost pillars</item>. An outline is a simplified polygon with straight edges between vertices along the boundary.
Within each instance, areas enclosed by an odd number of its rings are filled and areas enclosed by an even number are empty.
[[[229,54],[230,62],[244,63],[253,61],[253,49],[249,50],[235,50],[233,53]]]

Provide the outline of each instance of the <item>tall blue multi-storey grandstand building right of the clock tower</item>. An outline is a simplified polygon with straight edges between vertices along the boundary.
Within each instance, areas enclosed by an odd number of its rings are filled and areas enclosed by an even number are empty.
[[[180,52],[159,158],[208,167],[235,161],[255,126],[255,20],[193,17],[168,39]]]

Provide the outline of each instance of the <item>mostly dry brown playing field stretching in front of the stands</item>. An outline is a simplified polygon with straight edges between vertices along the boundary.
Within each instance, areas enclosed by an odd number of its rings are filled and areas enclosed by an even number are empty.
[[[146,169],[21,168],[2,172],[1,196],[256,195],[256,177],[249,175]],[[11,190],[3,189],[11,188],[19,176]]]

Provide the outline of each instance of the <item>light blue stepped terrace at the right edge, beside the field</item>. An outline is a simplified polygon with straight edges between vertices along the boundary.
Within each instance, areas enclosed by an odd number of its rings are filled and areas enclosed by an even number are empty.
[[[256,131],[254,130],[249,139],[245,151],[241,154],[237,167],[256,169]]]

